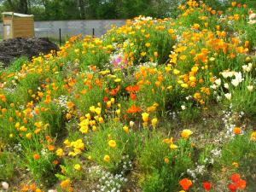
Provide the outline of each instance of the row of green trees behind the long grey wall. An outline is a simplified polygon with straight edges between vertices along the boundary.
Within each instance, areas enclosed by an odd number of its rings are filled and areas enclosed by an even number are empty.
[[[33,14],[36,20],[130,19],[137,15],[177,15],[177,0],[5,0],[0,11]]]

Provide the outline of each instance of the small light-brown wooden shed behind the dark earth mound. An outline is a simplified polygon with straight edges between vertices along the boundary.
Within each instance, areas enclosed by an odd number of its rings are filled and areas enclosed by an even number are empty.
[[[3,39],[34,37],[34,16],[3,12]]]

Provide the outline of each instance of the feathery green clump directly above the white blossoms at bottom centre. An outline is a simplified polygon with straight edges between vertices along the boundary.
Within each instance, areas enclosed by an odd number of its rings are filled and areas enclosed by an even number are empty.
[[[108,141],[116,141],[116,147],[108,146]],[[102,125],[91,138],[88,156],[98,165],[108,169],[110,172],[118,172],[122,167],[121,162],[124,155],[129,155],[133,160],[136,148],[139,146],[137,134],[133,131],[126,133],[119,123],[108,123]],[[110,160],[104,160],[104,156],[109,155]]]

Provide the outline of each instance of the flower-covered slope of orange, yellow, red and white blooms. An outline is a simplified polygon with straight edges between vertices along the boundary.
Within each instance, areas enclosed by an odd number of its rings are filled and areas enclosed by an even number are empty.
[[[1,69],[0,191],[256,191],[256,9],[178,9]]]

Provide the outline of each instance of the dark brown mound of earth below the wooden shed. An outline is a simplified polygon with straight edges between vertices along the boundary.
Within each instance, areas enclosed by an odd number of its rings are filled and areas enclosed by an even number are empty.
[[[32,59],[32,56],[49,54],[51,50],[59,48],[48,38],[11,38],[0,43],[0,62],[6,67],[20,56]]]

